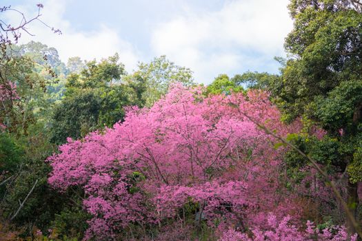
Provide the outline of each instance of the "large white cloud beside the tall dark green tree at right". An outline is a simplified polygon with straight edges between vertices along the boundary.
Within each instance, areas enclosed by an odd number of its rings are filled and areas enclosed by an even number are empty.
[[[151,47],[190,67],[203,83],[220,73],[270,67],[274,56],[283,55],[292,29],[287,5],[288,0],[240,0],[226,1],[216,12],[188,12],[157,25]]]

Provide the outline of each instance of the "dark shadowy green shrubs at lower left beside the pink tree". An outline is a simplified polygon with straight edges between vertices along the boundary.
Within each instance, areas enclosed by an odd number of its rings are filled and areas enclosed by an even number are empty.
[[[59,238],[79,238],[86,229],[88,214],[81,208],[82,193],[75,189],[57,193],[48,185],[51,167],[44,160],[54,151],[41,123],[31,125],[28,136],[15,138],[0,132],[1,218],[20,227],[23,237],[37,228],[43,233],[57,229]]]

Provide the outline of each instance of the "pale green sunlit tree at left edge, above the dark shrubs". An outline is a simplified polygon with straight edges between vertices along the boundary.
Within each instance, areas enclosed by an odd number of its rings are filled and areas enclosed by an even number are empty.
[[[44,78],[34,71],[35,65],[30,56],[0,59],[1,82],[10,81],[17,85],[18,98],[0,101],[0,123],[6,125],[10,132],[27,134],[29,125],[48,114],[46,110],[50,105],[44,93],[54,83],[54,78]]]

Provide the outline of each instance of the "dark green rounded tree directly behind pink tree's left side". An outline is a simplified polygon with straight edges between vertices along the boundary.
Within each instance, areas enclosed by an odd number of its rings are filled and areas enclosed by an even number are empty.
[[[90,61],[80,74],[70,74],[63,100],[54,108],[52,143],[65,143],[67,137],[81,138],[88,132],[112,127],[122,121],[123,107],[143,106],[143,78],[122,78],[126,72],[118,54]]]

